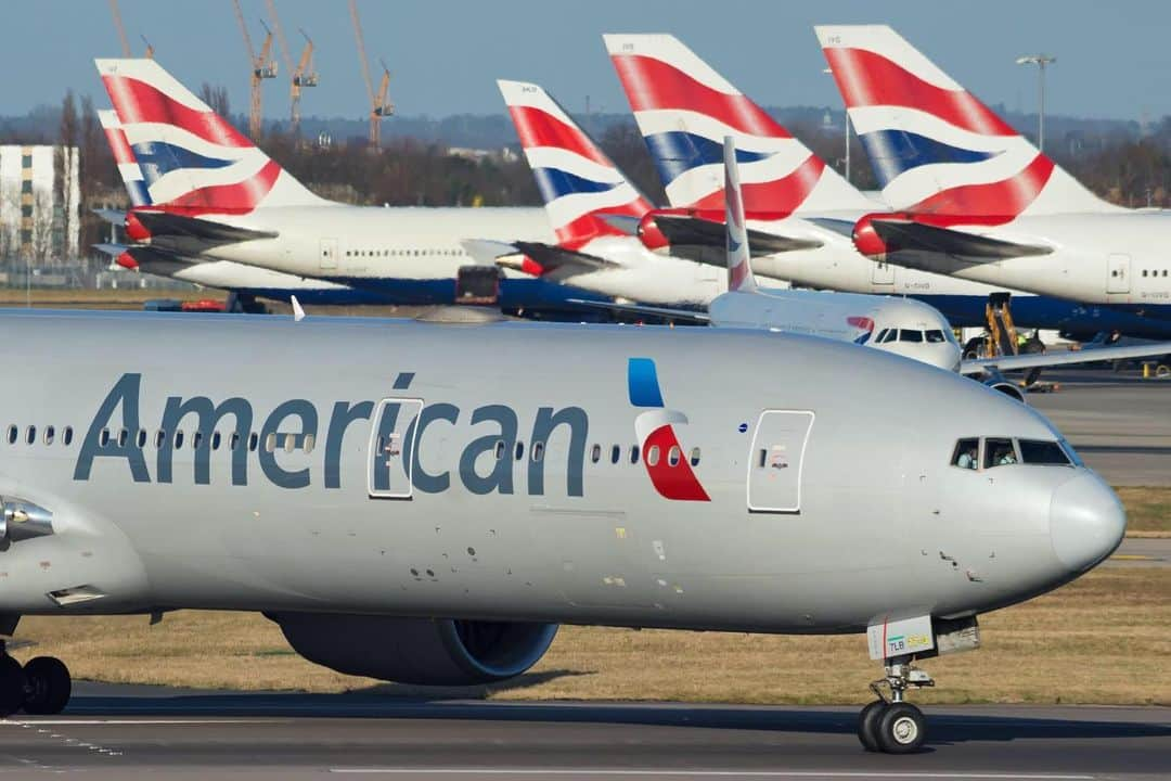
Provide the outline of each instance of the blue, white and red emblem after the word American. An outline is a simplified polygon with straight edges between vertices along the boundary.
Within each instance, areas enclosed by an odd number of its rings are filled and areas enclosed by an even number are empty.
[[[655,491],[674,501],[711,501],[691,468],[691,453],[683,450],[674,430],[687,423],[687,416],[663,403],[653,358],[626,362],[626,389],[630,404],[646,410],[635,418],[635,437]]]

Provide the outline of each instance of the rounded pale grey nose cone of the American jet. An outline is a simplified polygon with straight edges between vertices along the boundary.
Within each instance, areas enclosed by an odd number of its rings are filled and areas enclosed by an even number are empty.
[[[1071,571],[1084,571],[1114,553],[1125,530],[1122,502],[1093,472],[1081,472],[1053,492],[1049,536],[1057,559]]]

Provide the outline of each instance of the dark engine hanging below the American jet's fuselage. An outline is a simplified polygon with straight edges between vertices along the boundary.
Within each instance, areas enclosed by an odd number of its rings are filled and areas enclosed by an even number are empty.
[[[350,676],[467,686],[521,674],[545,656],[557,624],[266,614],[299,655]]]

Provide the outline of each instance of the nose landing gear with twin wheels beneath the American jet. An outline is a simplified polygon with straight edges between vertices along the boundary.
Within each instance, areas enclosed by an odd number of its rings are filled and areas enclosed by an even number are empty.
[[[878,699],[858,715],[858,740],[868,752],[910,754],[923,747],[927,722],[919,708],[905,701],[906,691],[934,686],[936,681],[913,667],[910,657],[888,659],[885,672],[870,684]],[[883,696],[884,686],[890,690],[889,700]]]

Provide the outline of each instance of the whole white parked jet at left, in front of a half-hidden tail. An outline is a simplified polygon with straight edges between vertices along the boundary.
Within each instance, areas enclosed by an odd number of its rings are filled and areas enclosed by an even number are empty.
[[[138,247],[227,260],[376,292],[390,303],[492,299],[499,269],[460,240],[548,241],[539,208],[378,208],[319,198],[153,60],[97,60],[151,205],[126,215]],[[508,309],[594,294],[515,273]]]

